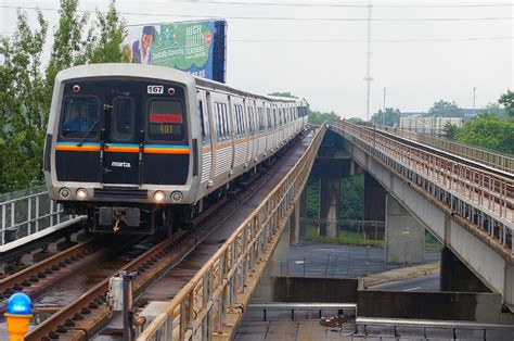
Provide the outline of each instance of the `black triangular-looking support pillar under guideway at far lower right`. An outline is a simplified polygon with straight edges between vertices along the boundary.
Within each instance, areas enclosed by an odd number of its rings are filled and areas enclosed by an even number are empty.
[[[448,247],[441,249],[440,290],[489,292],[478,277],[476,277]]]

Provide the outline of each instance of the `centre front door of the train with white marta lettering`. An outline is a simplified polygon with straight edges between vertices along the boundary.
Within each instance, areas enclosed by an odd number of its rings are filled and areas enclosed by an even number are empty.
[[[102,182],[105,185],[139,186],[140,152],[144,137],[140,134],[141,121],[136,108],[141,108],[141,99],[136,93],[106,96],[104,105],[104,142],[102,159]]]

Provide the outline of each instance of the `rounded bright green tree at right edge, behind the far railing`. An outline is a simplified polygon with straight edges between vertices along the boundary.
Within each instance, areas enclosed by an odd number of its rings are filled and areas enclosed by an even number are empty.
[[[514,154],[514,121],[501,121],[491,114],[479,114],[467,122],[455,140]]]

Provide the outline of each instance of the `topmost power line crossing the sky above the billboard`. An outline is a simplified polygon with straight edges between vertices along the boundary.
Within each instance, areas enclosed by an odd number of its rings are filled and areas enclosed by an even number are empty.
[[[21,9],[21,10],[41,10],[59,12],[59,9],[52,8],[37,8],[37,7],[15,7],[2,4],[0,8],[4,9]],[[92,10],[77,10],[80,13],[95,13]],[[101,13],[106,13],[102,12]],[[166,16],[166,17],[188,17],[188,18],[221,18],[220,16],[211,15],[192,15],[192,14],[166,14],[166,13],[141,13],[141,12],[118,12],[123,15],[138,15],[138,16]],[[367,17],[291,17],[291,16],[226,16],[230,20],[260,20],[260,21],[319,21],[319,22],[368,22]],[[497,17],[423,17],[423,18],[371,18],[372,22],[474,22],[474,21],[511,21],[512,16],[497,16]]]

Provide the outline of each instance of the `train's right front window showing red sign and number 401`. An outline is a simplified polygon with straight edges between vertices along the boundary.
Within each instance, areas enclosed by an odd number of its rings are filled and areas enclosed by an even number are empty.
[[[151,100],[149,104],[151,140],[182,141],[185,137],[183,104],[177,100]]]

